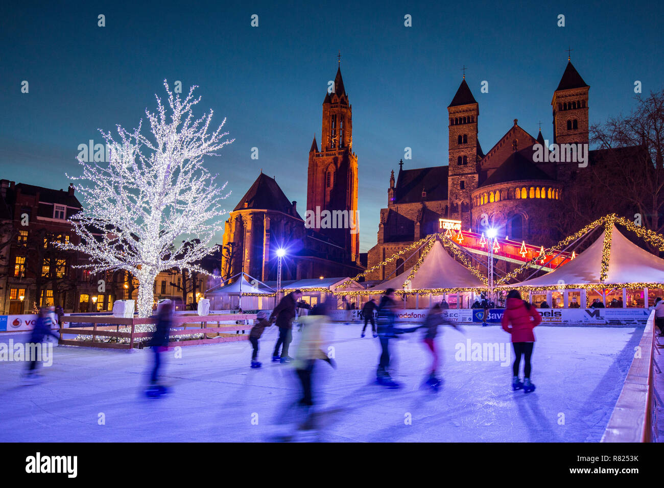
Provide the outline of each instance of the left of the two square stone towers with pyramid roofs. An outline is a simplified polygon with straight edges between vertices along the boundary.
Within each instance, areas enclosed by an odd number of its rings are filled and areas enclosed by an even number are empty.
[[[470,194],[477,189],[481,149],[477,141],[479,104],[465,82],[465,75],[448,106],[448,115],[448,215],[468,227],[471,224]]]

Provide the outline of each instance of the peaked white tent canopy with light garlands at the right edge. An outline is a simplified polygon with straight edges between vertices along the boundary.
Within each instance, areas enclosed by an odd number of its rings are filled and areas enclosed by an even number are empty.
[[[502,285],[501,288],[554,285],[570,288],[573,285],[600,284],[603,250],[604,232],[588,249],[552,272],[525,282]],[[613,226],[607,271],[606,284],[661,283],[664,281],[664,260],[639,248]]]

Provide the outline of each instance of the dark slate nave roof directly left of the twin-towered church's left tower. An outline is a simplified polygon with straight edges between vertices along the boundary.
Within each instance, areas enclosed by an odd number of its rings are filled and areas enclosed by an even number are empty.
[[[394,203],[447,200],[448,170],[447,166],[399,170]],[[422,190],[426,197],[422,197]]]

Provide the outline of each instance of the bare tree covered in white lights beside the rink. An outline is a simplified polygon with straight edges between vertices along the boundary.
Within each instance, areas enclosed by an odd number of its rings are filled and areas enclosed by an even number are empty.
[[[203,157],[216,155],[224,145],[226,119],[208,133],[212,110],[194,118],[192,108],[201,98],[182,100],[164,80],[168,108],[157,96],[157,112],[147,109],[150,133],[141,134],[141,123],[129,132],[117,125],[116,140],[102,132],[110,151],[106,163],[78,158],[83,175],[70,177],[83,198],[83,210],[70,220],[80,244],[63,248],[90,256],[84,266],[94,273],[126,270],[139,282],[137,310],[140,317],[152,311],[157,274],[177,268],[207,274],[196,262],[216,250],[210,247],[222,230],[219,217],[226,184],[217,187],[215,176],[203,167]]]

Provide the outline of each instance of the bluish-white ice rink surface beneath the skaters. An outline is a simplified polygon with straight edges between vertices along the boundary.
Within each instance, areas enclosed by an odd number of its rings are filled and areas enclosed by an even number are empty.
[[[357,325],[329,326],[338,368],[317,362],[320,440],[599,441],[643,329],[535,332],[535,392],[511,390],[511,365],[501,366],[506,361],[457,361],[457,344],[498,343],[505,351],[501,344],[509,341],[498,326],[469,326],[463,334],[447,327],[438,337],[445,382],[436,393],[421,388],[430,356],[420,331],[392,341],[394,378],[404,388],[387,390],[374,384],[378,339],[360,339]],[[25,363],[0,363],[0,441],[268,440],[300,414],[288,408],[299,395],[293,369],[270,362],[276,335],[270,327],[261,339],[260,369],[248,367],[248,341],[183,347],[181,359],[169,351],[163,372],[171,393],[156,400],[144,394],[149,349],[55,347],[53,365],[42,368],[44,382],[33,386],[21,386]],[[293,336],[296,344],[299,333]]]

